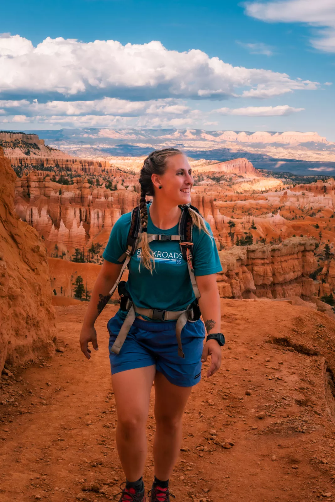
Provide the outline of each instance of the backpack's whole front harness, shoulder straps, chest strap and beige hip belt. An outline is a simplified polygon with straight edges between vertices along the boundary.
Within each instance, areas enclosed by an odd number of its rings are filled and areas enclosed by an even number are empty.
[[[180,357],[185,358],[185,354],[183,352],[182,347],[182,339],[181,333],[187,321],[196,321],[200,318],[200,310],[198,305],[198,298],[200,298],[199,289],[197,286],[196,278],[194,275],[193,269],[193,240],[192,240],[192,230],[193,230],[193,222],[191,215],[188,211],[190,204],[186,204],[183,206],[179,206],[182,209],[182,214],[179,220],[178,233],[179,235],[165,235],[165,234],[147,234],[148,242],[152,242],[153,240],[178,240],[180,241],[181,252],[183,258],[187,261],[188,271],[190,274],[190,280],[192,284],[192,288],[196,297],[196,300],[188,305],[187,309],[180,311],[166,311],[166,310],[157,310],[157,309],[146,309],[142,307],[137,307],[129,298],[126,303],[126,310],[128,313],[126,318],[123,321],[123,324],[120,328],[120,331],[114,341],[111,351],[115,354],[118,354],[121,350],[124,340],[131,328],[135,318],[136,313],[139,315],[145,315],[152,320],[177,320],[176,323],[176,337],[178,342],[178,355]],[[191,208],[195,211],[198,209],[194,206]],[[114,286],[109,292],[109,295],[112,296],[114,291],[116,290],[118,284],[120,283],[122,274],[125,268],[128,266],[130,258],[134,255],[135,251],[141,247],[141,237],[142,237],[142,227],[140,224],[140,216],[139,216],[139,206],[134,207],[131,211],[131,223],[130,230],[127,238],[127,248],[123,255],[118,259],[119,262],[122,262],[124,259],[124,263],[122,265],[120,274],[115,281]]]

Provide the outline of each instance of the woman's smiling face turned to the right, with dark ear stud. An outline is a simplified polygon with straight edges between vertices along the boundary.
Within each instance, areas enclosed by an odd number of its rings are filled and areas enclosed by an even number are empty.
[[[192,168],[185,155],[173,155],[166,161],[166,170],[162,176],[152,175],[155,193],[169,199],[174,205],[191,202],[191,188],[194,184]],[[161,185],[161,189],[159,189]]]

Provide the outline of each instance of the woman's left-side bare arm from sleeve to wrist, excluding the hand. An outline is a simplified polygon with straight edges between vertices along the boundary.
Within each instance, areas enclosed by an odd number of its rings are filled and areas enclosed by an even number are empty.
[[[101,314],[111,298],[109,291],[112,289],[119,275],[120,268],[121,265],[112,263],[106,265],[106,262],[102,266],[91,293],[91,299],[84,316],[83,325],[94,326],[97,317]]]

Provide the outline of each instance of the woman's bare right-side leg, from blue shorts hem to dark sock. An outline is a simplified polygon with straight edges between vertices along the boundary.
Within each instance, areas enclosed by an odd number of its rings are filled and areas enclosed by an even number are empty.
[[[154,379],[156,434],[153,443],[156,478],[168,480],[179,455],[182,442],[184,408],[192,387],[171,384],[159,371]]]

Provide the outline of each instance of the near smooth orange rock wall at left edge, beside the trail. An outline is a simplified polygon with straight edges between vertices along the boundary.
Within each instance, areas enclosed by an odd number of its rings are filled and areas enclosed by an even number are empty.
[[[0,371],[8,361],[51,356],[55,312],[46,249],[14,207],[16,174],[0,147]]]

